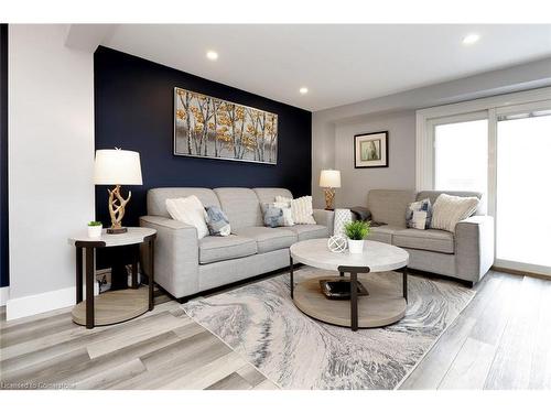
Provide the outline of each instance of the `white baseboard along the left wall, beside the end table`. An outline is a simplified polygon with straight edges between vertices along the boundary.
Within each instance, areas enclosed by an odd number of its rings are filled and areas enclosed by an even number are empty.
[[[3,290],[3,289],[2,289]],[[86,285],[84,286],[86,296]],[[94,295],[99,294],[98,283],[94,283]],[[76,287],[48,291],[36,295],[8,300],[6,319],[15,319],[75,305]]]

